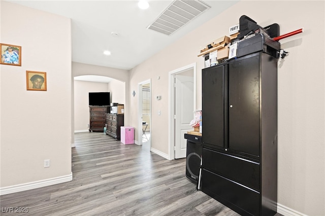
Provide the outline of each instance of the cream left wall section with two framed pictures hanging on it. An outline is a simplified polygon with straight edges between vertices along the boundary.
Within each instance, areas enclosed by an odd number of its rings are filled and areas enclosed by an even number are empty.
[[[1,190],[69,181],[71,20],[4,1],[0,6],[1,43],[21,46],[22,59],[21,66],[0,65]],[[46,72],[47,91],[27,91],[26,70]]]

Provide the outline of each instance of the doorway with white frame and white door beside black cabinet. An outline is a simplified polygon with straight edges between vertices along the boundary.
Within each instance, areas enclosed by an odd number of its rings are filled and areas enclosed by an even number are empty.
[[[169,73],[169,160],[186,157],[184,133],[196,111],[196,63]]]

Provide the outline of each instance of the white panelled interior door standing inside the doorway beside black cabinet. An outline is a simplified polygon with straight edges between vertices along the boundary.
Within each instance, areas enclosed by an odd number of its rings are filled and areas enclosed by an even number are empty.
[[[192,130],[193,82],[193,76],[175,75],[175,159],[186,157],[184,133]]]

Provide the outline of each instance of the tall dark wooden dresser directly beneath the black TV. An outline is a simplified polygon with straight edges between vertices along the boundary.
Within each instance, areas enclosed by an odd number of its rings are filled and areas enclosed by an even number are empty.
[[[110,106],[89,106],[89,132],[104,132],[106,114],[110,112]]]

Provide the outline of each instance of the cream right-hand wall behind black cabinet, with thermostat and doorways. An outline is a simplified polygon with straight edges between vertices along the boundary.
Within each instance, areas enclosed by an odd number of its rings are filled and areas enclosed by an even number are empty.
[[[304,27],[303,33],[280,41],[289,54],[278,63],[278,210],[325,215],[324,1],[239,2],[133,68],[129,89],[151,78],[152,95],[162,98],[152,100],[152,148],[168,154],[168,73],[193,62],[201,71],[200,50],[228,35],[242,15],[261,26],[278,23],[281,34]],[[202,108],[201,81],[197,73],[197,110]],[[136,130],[137,96],[127,101]]]

